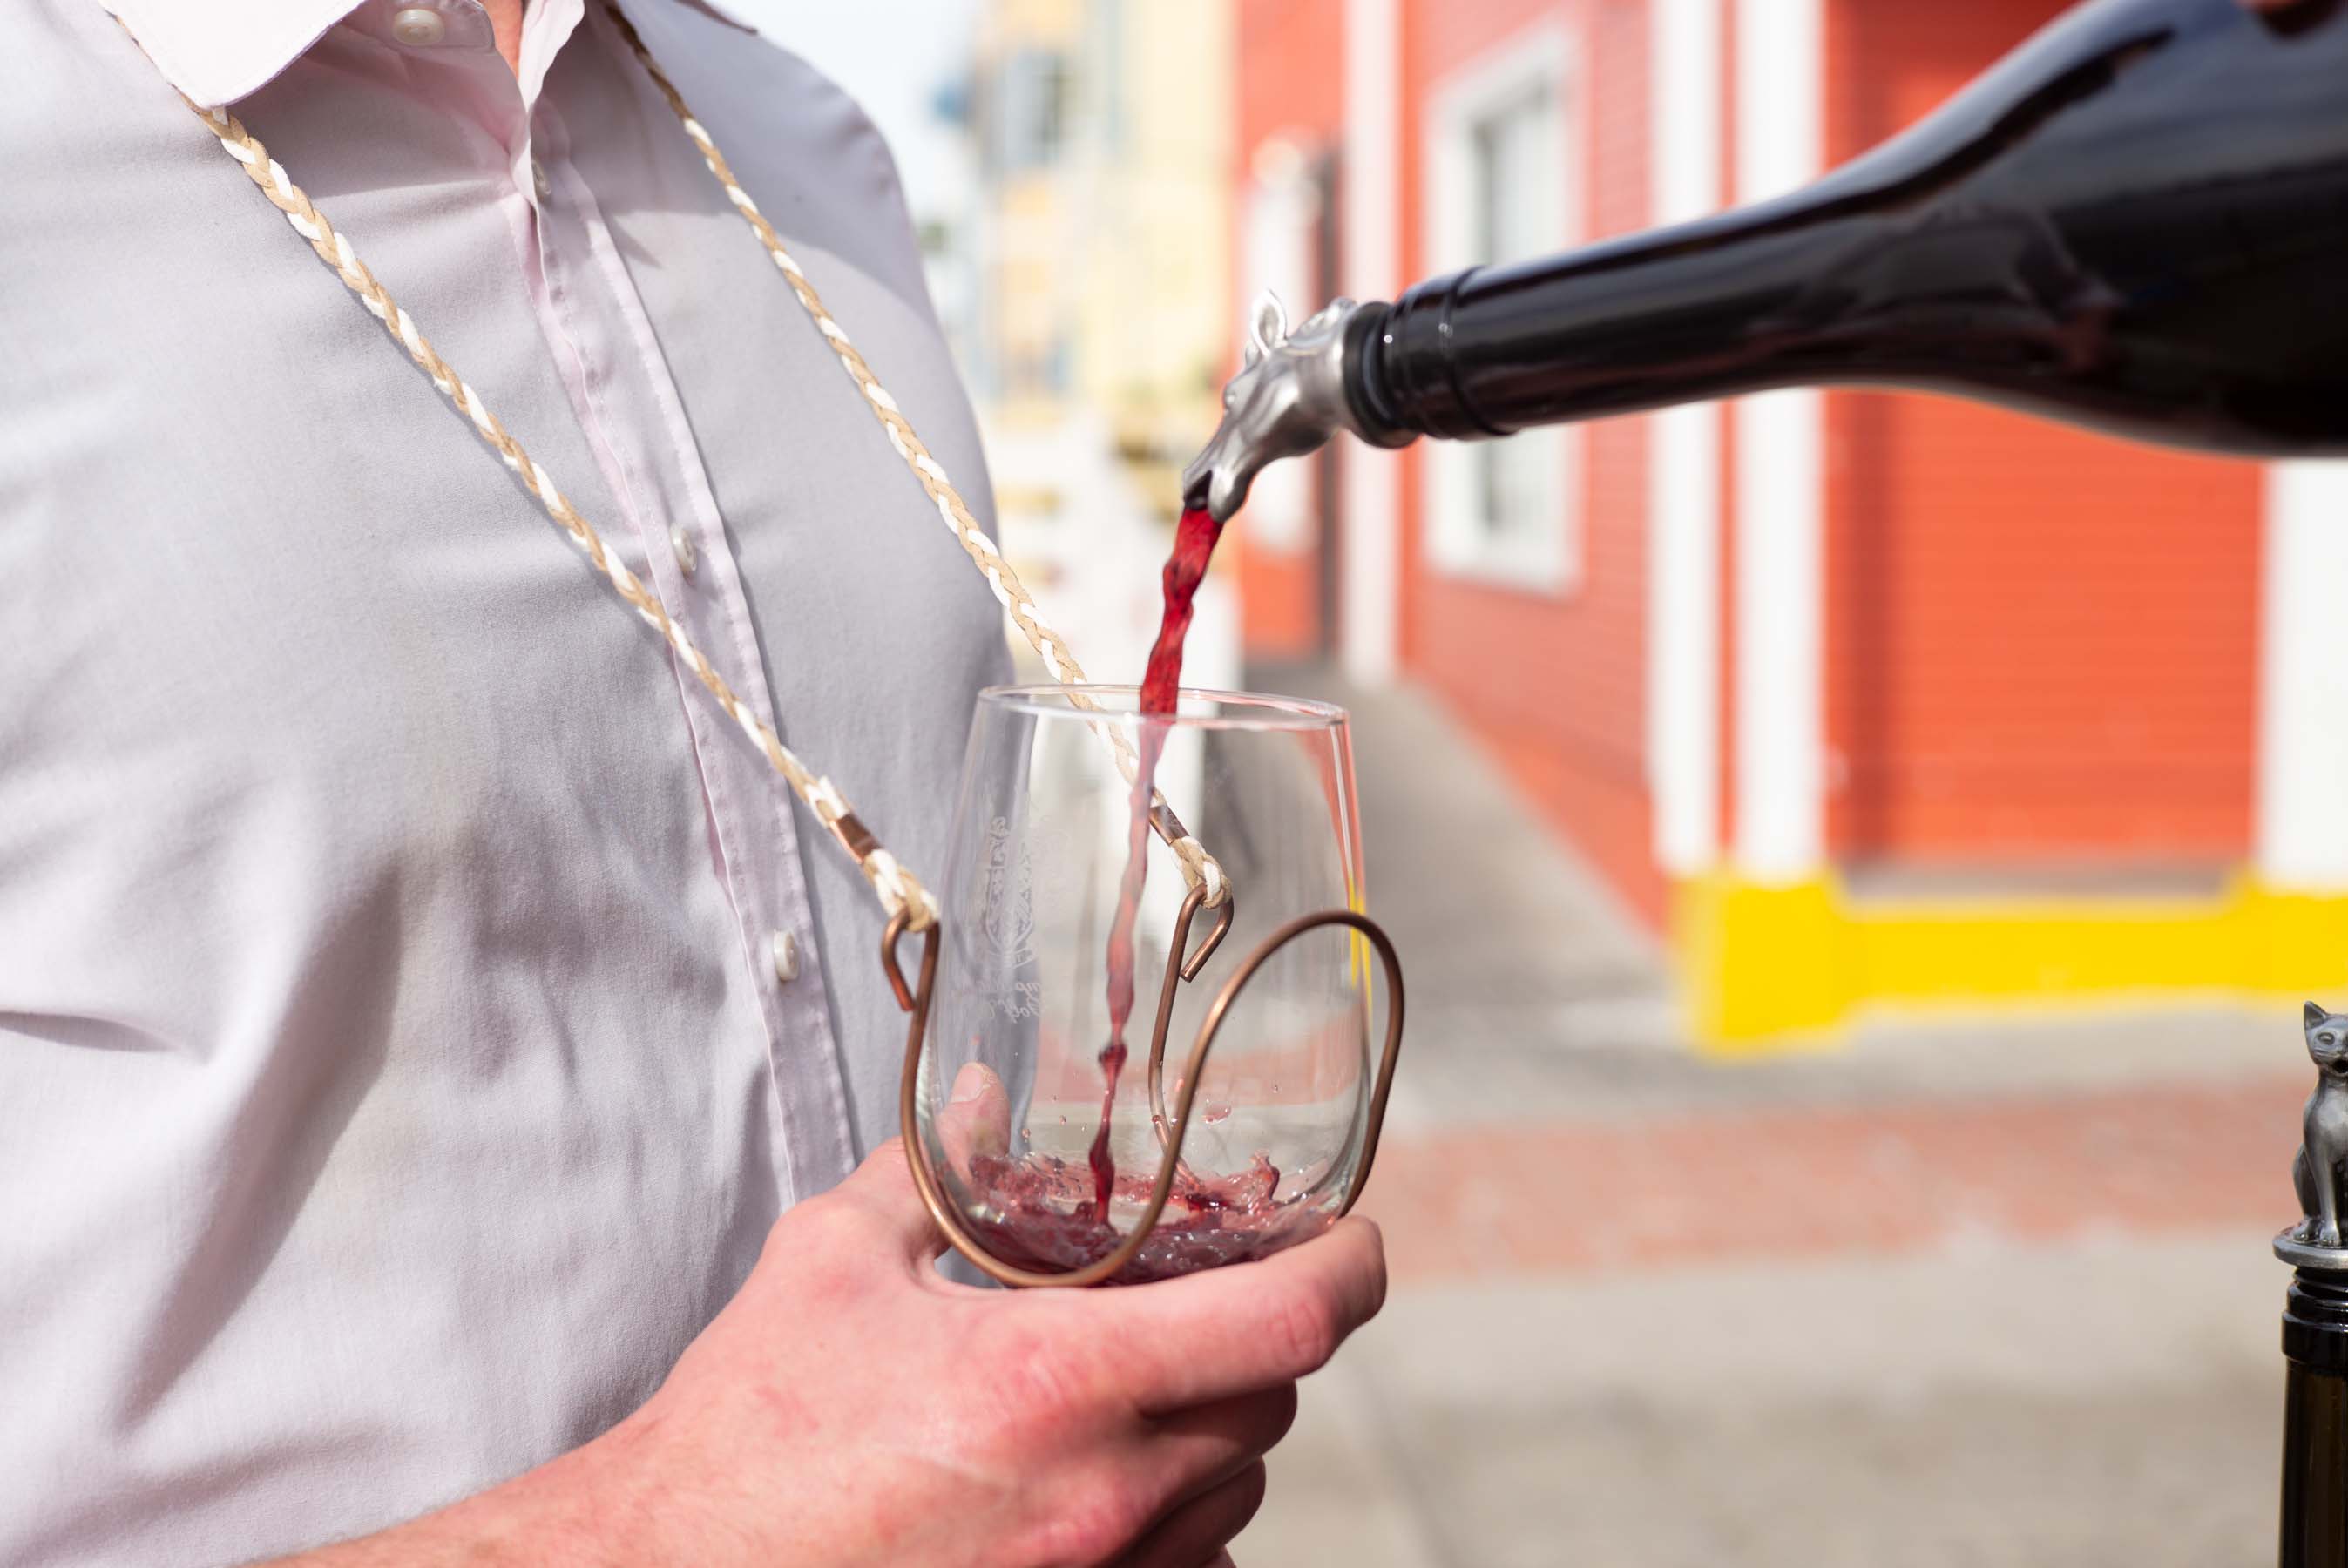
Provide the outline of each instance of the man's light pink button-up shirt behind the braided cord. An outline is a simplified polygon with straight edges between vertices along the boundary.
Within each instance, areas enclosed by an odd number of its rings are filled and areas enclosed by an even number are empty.
[[[991,521],[871,124],[625,2]],[[862,878],[167,75],[932,883],[1003,667],[599,0],[538,0],[519,80],[472,0],[117,9],[155,63],[99,0],[0,42],[14,1568],[242,1561],[580,1444],[895,1120]]]

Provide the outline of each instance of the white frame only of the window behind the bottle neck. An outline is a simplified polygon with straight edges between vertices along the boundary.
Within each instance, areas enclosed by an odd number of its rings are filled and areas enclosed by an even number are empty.
[[[1428,275],[1456,272],[1489,261],[1475,254],[1475,129],[1533,92],[1557,103],[1554,162],[1559,174],[1557,225],[1540,254],[1564,251],[1585,232],[1587,99],[1573,38],[1557,21],[1512,33],[1472,63],[1444,77],[1428,99],[1425,127],[1425,251]],[[1571,594],[1583,580],[1583,458],[1578,425],[1526,430],[1507,441],[1545,458],[1540,512],[1554,526],[1514,538],[1496,538],[1477,516],[1482,441],[1428,441],[1421,484],[1425,502],[1428,566],[1503,587]]]

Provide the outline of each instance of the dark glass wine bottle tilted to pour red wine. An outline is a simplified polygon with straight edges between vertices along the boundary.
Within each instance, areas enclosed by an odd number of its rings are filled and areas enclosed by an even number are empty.
[[[1343,322],[1381,444],[1834,383],[2348,453],[2348,2],[2097,0],[1806,190]]]

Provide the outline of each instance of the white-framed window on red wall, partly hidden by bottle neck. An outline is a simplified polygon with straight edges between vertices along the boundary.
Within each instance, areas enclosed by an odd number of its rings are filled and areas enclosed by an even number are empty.
[[[1428,117],[1435,272],[1531,261],[1578,239],[1566,38],[1543,26],[1446,82]],[[1439,570],[1561,592],[1580,573],[1580,434],[1529,430],[1428,448],[1428,556]]]

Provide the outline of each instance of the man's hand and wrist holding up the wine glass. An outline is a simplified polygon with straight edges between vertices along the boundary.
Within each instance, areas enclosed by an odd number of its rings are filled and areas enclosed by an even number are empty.
[[[984,1141],[1000,1091],[956,1089],[949,1141]],[[1209,1568],[1263,1500],[1263,1453],[1296,1415],[1296,1378],[1385,1298],[1369,1221],[1261,1263],[1113,1291],[979,1291],[937,1275],[939,1249],[904,1153],[883,1145],[777,1221],[742,1291],[641,1411],[315,1568],[441,1554]]]

